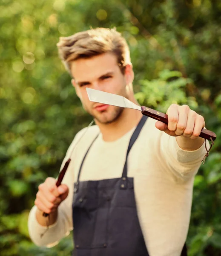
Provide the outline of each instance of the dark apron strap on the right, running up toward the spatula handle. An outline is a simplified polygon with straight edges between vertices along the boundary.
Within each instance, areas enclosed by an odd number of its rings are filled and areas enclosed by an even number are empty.
[[[146,122],[147,116],[142,116],[140,122],[138,123],[138,126],[136,127],[135,131],[133,132],[130,141],[129,141],[129,145],[127,148],[127,152],[126,152],[126,160],[123,166],[123,173],[122,173],[122,177],[121,177],[121,183],[120,183],[120,189],[126,189],[127,188],[127,157],[129,154],[129,151],[131,150],[132,146],[134,145],[135,141],[137,140],[141,129],[143,128],[145,122]]]

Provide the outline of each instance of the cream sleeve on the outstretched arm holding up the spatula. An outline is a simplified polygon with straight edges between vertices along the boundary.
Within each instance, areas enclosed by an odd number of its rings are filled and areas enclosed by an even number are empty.
[[[210,147],[206,140],[207,148]],[[162,132],[159,143],[161,157],[164,159],[166,169],[172,172],[176,180],[189,180],[196,175],[206,154],[205,143],[194,151],[187,151],[179,147],[176,137]]]

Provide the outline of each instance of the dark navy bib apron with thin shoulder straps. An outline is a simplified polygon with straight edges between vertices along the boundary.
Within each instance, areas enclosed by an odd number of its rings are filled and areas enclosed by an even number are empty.
[[[132,134],[120,178],[79,181],[86,155],[98,136],[83,157],[72,204],[74,256],[149,256],[138,220],[133,178],[127,177],[128,154],[146,119],[142,117]]]

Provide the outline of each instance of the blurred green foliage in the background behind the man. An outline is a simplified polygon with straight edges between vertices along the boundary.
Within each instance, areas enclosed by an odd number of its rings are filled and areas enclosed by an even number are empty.
[[[1,0],[0,255],[70,255],[71,236],[32,244],[27,218],[37,186],[56,177],[73,137],[91,121],[57,56],[59,36],[116,27],[129,43],[134,89],[166,112],[188,104],[218,138],[195,178],[190,256],[221,255],[220,0]]]

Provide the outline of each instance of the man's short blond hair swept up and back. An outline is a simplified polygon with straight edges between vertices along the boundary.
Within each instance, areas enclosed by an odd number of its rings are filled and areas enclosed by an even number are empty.
[[[91,58],[106,52],[116,55],[121,72],[130,63],[126,40],[116,29],[96,28],[60,37],[57,43],[59,56],[71,74],[71,63],[80,58]]]

